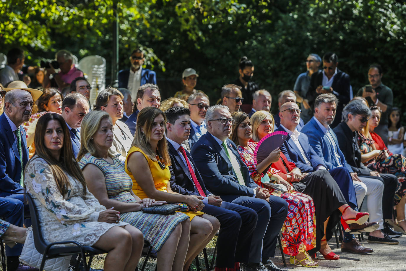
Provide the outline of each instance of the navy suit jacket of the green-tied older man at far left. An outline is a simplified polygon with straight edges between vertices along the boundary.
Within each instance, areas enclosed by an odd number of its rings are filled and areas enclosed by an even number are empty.
[[[24,127],[20,125],[21,146],[23,152],[23,168],[28,162],[28,147]],[[0,196],[23,194],[20,185],[21,166],[20,155],[14,133],[6,119],[5,113],[0,116]]]

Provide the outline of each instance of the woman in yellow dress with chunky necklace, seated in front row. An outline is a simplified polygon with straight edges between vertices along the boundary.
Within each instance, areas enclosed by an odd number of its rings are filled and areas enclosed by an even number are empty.
[[[146,107],[138,113],[133,146],[125,160],[125,171],[133,181],[132,190],[140,199],[153,198],[166,202],[184,202],[190,211],[190,242],[184,271],[192,260],[209,243],[220,228],[215,217],[200,212],[204,207],[203,197],[181,195],[173,192],[171,179],[171,158],[165,137],[166,117],[158,108]]]

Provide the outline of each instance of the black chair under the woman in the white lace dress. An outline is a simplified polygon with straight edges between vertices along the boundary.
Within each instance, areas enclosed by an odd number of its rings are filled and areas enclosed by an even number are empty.
[[[59,258],[67,255],[78,255],[78,265],[79,262],[82,260],[84,270],[89,271],[93,256],[107,253],[107,251],[103,251],[95,247],[80,245],[76,241],[62,241],[50,244],[45,243],[41,234],[41,225],[39,223],[37,207],[35,206],[35,203],[30,195],[26,194],[26,198],[28,199],[28,204],[30,206],[32,234],[34,235],[35,248],[38,250],[39,253],[43,254],[41,267],[39,268],[39,270],[44,269],[45,260]],[[67,244],[73,244],[73,246],[55,247],[55,245]],[[89,257],[89,263],[87,264],[86,257]],[[78,265],[76,266],[76,270],[78,269]]]

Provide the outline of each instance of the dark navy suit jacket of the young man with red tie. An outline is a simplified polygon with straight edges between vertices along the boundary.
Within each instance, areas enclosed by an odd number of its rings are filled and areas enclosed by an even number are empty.
[[[183,162],[182,158],[180,157],[180,154],[175,150],[175,148],[169,141],[168,147],[169,147],[169,156],[171,156],[172,161],[172,165],[169,167],[169,170],[171,171],[171,180],[169,180],[169,182],[171,183],[172,191],[175,191],[183,195],[200,196],[199,191],[197,191],[196,186],[194,186],[194,182],[192,180],[192,176],[190,176],[189,169]],[[206,189],[206,186],[203,182],[203,178],[200,175],[199,170],[197,170],[196,164],[194,163],[192,156],[187,150],[185,151],[186,156],[188,156],[189,160],[192,162],[192,165],[194,167],[194,175],[196,175],[196,178],[200,186],[202,187],[204,193],[206,194],[206,196],[211,195],[212,193],[210,193]]]

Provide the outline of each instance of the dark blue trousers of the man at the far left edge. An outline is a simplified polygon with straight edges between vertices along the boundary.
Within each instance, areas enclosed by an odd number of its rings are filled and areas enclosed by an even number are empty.
[[[0,197],[0,217],[13,225],[22,227],[24,224],[23,202],[12,197]],[[6,246],[6,256],[19,256],[22,248],[22,244],[17,244],[13,248]]]

